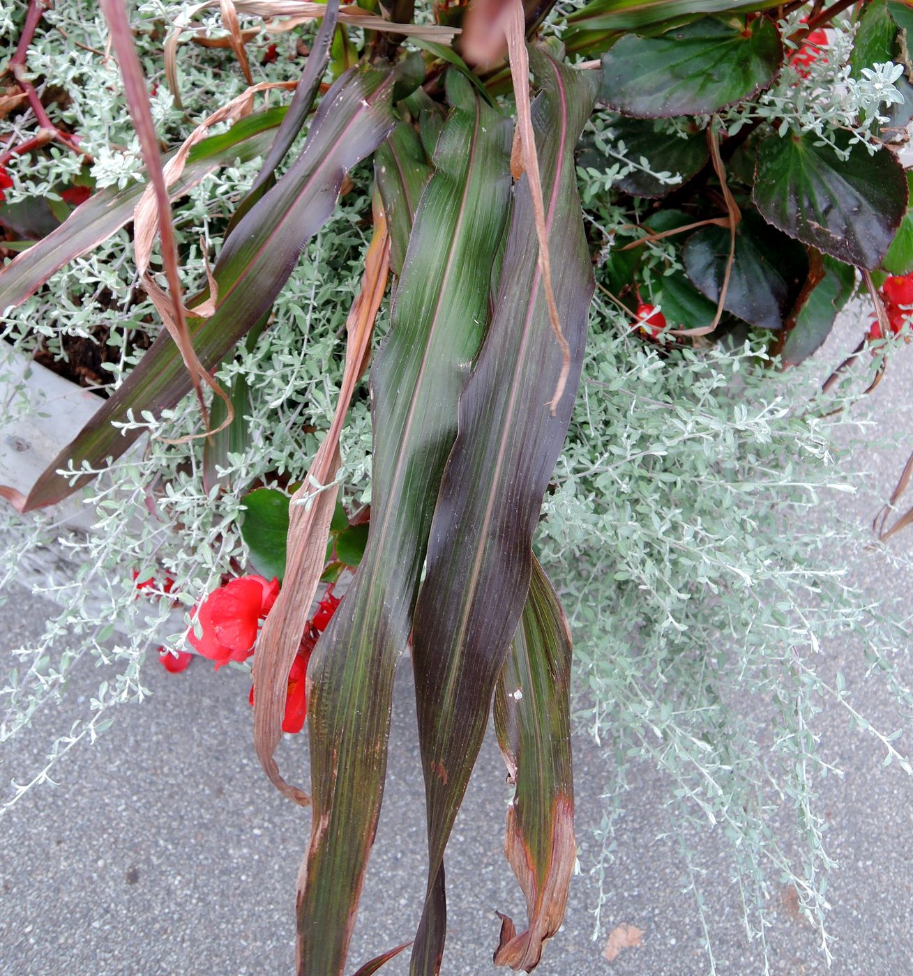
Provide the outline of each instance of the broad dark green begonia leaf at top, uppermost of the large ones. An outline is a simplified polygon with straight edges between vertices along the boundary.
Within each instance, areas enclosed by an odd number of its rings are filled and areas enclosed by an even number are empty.
[[[658,37],[622,37],[602,57],[600,97],[638,118],[705,115],[766,89],[782,61],[769,18],[705,18]]]

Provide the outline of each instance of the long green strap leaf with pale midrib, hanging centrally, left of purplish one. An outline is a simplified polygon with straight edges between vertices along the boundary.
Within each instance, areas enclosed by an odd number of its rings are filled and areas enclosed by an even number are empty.
[[[371,523],[353,586],[309,668],[313,825],[299,894],[303,976],[341,973],[387,767],[405,650],[457,402],[488,323],[510,195],[511,127],[450,71],[437,142],[392,312],[371,369]]]

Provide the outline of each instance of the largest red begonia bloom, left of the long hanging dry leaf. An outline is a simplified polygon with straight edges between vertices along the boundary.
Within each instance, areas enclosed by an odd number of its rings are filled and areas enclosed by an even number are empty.
[[[241,576],[213,590],[200,605],[197,636],[191,628],[190,645],[221,668],[228,661],[246,661],[254,652],[257,629],[272,609],[279,581],[262,576]]]

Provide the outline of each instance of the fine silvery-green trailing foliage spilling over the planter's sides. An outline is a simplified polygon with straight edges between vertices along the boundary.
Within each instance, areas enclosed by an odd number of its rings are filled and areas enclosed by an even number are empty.
[[[17,0],[12,16],[9,9],[0,13],[0,43],[15,43],[24,6]],[[152,4],[143,10],[150,19],[160,12]],[[87,47],[104,47],[94,4],[61,4],[46,17]],[[160,41],[142,33],[138,41],[150,79],[161,83]],[[64,46],[58,31],[40,34],[29,63],[53,72],[70,96],[67,121],[95,155],[100,183],[134,179],[139,153],[111,63]],[[190,118],[243,89],[222,53],[187,46],[180,63]],[[891,71],[877,73],[887,77]],[[286,74],[292,77],[294,69]],[[796,96],[778,91],[766,103],[782,113],[787,98],[795,102]],[[153,106],[161,132],[180,139],[187,122],[164,84],[158,92]],[[812,105],[796,108],[793,118],[800,128],[827,123]],[[18,124],[24,138],[27,117]],[[603,128],[595,119],[595,131]],[[111,144],[121,149],[112,151]],[[605,202],[612,179],[643,165],[625,162],[623,146],[613,151],[622,158],[611,179],[580,174],[587,219],[597,230],[617,223]],[[33,170],[11,168],[11,198],[53,193],[75,166],[61,150]],[[210,255],[218,253],[210,222],[228,215],[256,169],[256,160],[224,169],[197,187],[179,209],[183,238],[192,243],[202,235]],[[361,176],[356,187],[369,184],[369,174]],[[258,479],[293,480],[307,468],[318,443],[308,431],[328,427],[338,393],[341,336],[359,285],[368,207],[358,190],[344,198],[277,300],[270,329],[253,351],[238,351],[220,371],[225,383],[245,377],[252,391],[250,443],[221,472],[228,489],[204,491],[198,440],[170,442],[200,430],[198,412],[185,403],[160,421],[134,419],[150,435],[144,450],[83,492],[85,510],[94,512],[92,531],[68,529],[54,512],[21,517],[8,506],[0,509],[0,533],[8,540],[0,588],[19,598],[17,581],[31,579],[32,592],[60,606],[36,644],[15,652],[17,667],[0,687],[0,741],[60,701],[77,666],[104,664],[89,712],[56,739],[47,766],[13,785],[4,809],[49,779],[62,754],[104,731],[116,706],[145,698],[147,656],[154,659],[162,644],[182,646],[194,604],[232,559],[246,562],[238,516],[247,487]],[[652,275],[661,289],[662,276],[676,266],[674,255],[662,242],[651,248],[645,281],[650,284]],[[199,247],[185,273],[187,282],[205,280]],[[64,335],[90,336],[107,325],[109,342],[122,350],[111,376],[117,384],[136,358],[127,338],[155,328],[150,303],[123,299],[136,286],[132,249],[121,232],[56,274],[47,289],[7,316],[0,334],[23,352],[41,340],[62,355]],[[378,332],[386,327],[381,321]],[[834,771],[815,735],[822,698],[839,702],[860,728],[877,736],[889,760],[907,772],[910,765],[895,745],[898,733],[874,729],[855,712],[843,678],[825,676],[822,648],[838,634],[844,640],[849,635],[873,669],[884,672],[901,705],[913,705],[893,664],[906,631],[889,614],[860,602],[845,582],[836,553],[852,543],[851,530],[832,521],[822,533],[809,522],[809,513],[836,505],[858,484],[847,425],[843,415],[821,416],[835,401],[818,409],[808,371],[778,374],[762,344],[750,337],[699,350],[645,345],[601,294],[593,305],[591,337],[537,542],[575,637],[578,728],[602,746],[606,760],[602,829],[595,843],[584,839],[583,863],[592,866],[602,892],[628,774],[645,761],[663,772],[674,817],[684,815],[725,836],[749,934],[766,940],[771,885],[793,884],[829,957],[824,915],[832,862],[814,802],[818,778]],[[14,367],[4,369],[13,375]],[[14,399],[8,415],[40,409]],[[370,417],[363,395],[353,404],[342,447],[346,495],[367,501]],[[153,483],[158,488],[150,495]],[[34,566],[47,546],[62,549],[69,571],[41,582]],[[144,590],[138,598],[134,574],[159,584],[171,577],[175,590],[170,596]],[[183,608],[183,621],[176,621],[172,599]],[[746,702],[753,707],[746,710]],[[42,717],[50,723],[53,713]],[[794,811],[798,855],[793,838],[776,826],[784,808]],[[683,856],[713,969],[712,923],[686,843]],[[603,899],[601,894],[596,906],[597,932]]]

